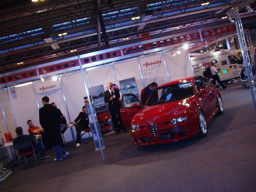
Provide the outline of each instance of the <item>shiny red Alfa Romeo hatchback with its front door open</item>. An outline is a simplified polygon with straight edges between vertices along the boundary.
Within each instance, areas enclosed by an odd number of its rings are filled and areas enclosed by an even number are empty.
[[[130,95],[134,102],[126,102]],[[204,76],[186,77],[158,86],[146,105],[133,94],[122,96],[121,118],[135,145],[179,141],[207,134],[207,122],[223,114],[221,94]]]

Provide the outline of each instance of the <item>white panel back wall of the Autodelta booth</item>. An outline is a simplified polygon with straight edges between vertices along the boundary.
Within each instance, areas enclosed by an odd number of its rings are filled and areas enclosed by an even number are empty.
[[[175,57],[173,57],[169,51],[167,51],[166,53],[160,53],[165,59],[165,64],[167,68],[167,71],[165,72],[169,74],[170,80],[194,75],[188,51],[181,49],[181,52],[182,53],[180,55],[176,54]],[[156,55],[159,56],[159,53],[147,55],[144,57],[150,59],[150,57],[156,57]],[[139,58],[141,59],[143,57]],[[83,73],[85,76],[87,88],[131,77],[135,77],[136,79],[139,94],[141,90],[144,88],[144,83],[142,79],[143,75],[140,69],[138,58],[114,62],[112,65],[106,64],[98,67],[87,68],[85,70],[83,70]],[[8,98],[7,91],[0,91],[6,121],[8,124],[9,131],[11,132],[13,137],[16,137],[16,127],[11,112],[10,102],[13,108],[16,125],[25,128],[24,133],[28,133],[28,119],[31,119],[36,126],[40,126],[36,97],[38,99],[39,107],[42,107],[41,99],[42,97],[47,95],[50,99],[49,103],[55,102],[57,104],[58,108],[65,115],[67,122],[73,122],[79,114],[79,112],[81,112],[82,106],[84,105],[83,97],[86,96],[85,85],[81,70],[65,73],[60,76],[61,82],[59,89],[36,94],[33,85],[30,84],[16,88],[15,94],[11,94],[9,90],[9,95],[11,95],[10,101]],[[34,87],[45,86],[51,83],[54,83],[51,78],[46,78],[45,82],[37,80],[34,82]],[[66,99],[66,103],[63,97],[63,93]],[[0,112],[0,116],[1,124],[5,125],[4,119],[2,118],[2,112]],[[6,128],[4,127],[5,126],[1,128],[2,133],[7,132]],[[74,128],[72,129],[74,130]],[[65,132],[64,136],[66,141],[72,141],[70,129],[68,129]]]

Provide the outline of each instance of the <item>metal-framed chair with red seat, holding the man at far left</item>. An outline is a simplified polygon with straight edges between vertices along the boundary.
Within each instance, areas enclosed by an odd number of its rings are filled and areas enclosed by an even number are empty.
[[[22,149],[26,149],[28,147],[32,147],[32,150],[29,150],[29,151],[26,151],[26,152],[19,151],[19,150],[22,150]],[[35,161],[37,162],[37,157],[35,156],[35,151],[37,151],[37,148],[34,148],[34,146],[32,144],[32,141],[27,141],[27,142],[24,142],[24,143],[16,144],[16,145],[14,145],[14,148],[18,152],[18,159],[23,157],[26,164],[28,164],[26,156],[29,156],[31,154],[33,154],[33,156],[35,158]],[[39,157],[40,157],[40,153],[39,153]],[[40,157],[40,159],[41,159],[41,157]],[[20,165],[20,168],[22,168],[20,160],[19,160],[19,165]],[[37,166],[38,166],[38,162],[37,162]]]

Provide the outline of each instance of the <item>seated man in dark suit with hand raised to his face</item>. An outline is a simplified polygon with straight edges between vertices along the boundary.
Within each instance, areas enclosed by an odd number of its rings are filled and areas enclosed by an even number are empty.
[[[83,106],[82,111],[83,112],[80,112],[73,122],[76,130],[76,147],[81,145],[81,136],[85,134],[83,130],[89,129],[89,117],[85,105]]]

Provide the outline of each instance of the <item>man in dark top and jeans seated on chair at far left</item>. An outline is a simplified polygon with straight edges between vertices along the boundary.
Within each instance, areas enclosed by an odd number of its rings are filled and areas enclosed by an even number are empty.
[[[48,159],[48,158],[51,157],[51,156],[46,156],[45,155],[44,148],[43,148],[43,146],[41,144],[41,141],[40,141],[40,135],[38,135],[38,136],[23,135],[22,127],[17,127],[15,129],[15,132],[17,133],[18,137],[13,140],[13,145],[20,144],[20,143],[25,143],[27,141],[32,141],[33,147],[38,148],[41,159]],[[26,152],[26,151],[30,151],[30,150],[32,150],[32,147],[31,148],[26,148],[25,150],[22,150],[22,151]]]

